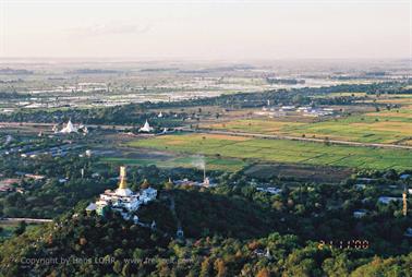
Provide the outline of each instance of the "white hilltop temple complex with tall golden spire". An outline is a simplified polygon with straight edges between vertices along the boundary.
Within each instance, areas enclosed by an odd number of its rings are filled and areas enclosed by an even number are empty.
[[[133,216],[133,212],[136,212],[141,205],[147,204],[155,200],[157,196],[157,190],[148,188],[141,190],[141,192],[132,192],[126,184],[126,171],[125,167],[120,167],[120,182],[119,188],[116,191],[107,190],[100,194],[100,197],[96,203],[90,203],[87,207],[87,212],[96,210],[98,215],[104,216],[105,210],[110,208],[119,212],[124,219],[131,219],[138,222],[136,215]]]

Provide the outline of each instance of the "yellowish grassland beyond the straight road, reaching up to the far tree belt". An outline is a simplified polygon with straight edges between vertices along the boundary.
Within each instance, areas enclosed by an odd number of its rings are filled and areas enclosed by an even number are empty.
[[[341,94],[339,94],[341,95]],[[343,94],[344,95],[344,94]],[[364,111],[342,118],[308,119],[304,116],[287,116],[283,118],[262,118],[226,120],[219,123],[204,123],[202,128],[250,132],[260,134],[281,134],[290,136],[306,136],[360,143],[407,144],[412,140],[412,96],[380,96],[366,101],[391,104],[400,107],[380,111],[371,111],[371,106]],[[366,108],[368,107],[368,108]],[[349,111],[352,107],[348,108]],[[347,110],[346,107],[343,109]],[[362,110],[362,109],[361,109]],[[225,119],[223,119],[225,120]]]

